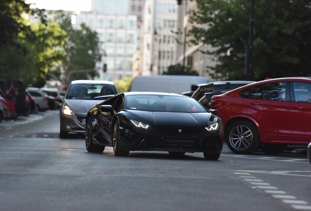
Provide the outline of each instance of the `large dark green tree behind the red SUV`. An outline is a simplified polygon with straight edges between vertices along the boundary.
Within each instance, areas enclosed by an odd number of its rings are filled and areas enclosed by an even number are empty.
[[[204,53],[218,58],[207,70],[212,78],[244,80],[250,0],[196,0],[190,21],[192,43],[214,49]],[[311,76],[310,0],[255,0],[253,80],[265,77]],[[227,52],[230,54],[227,54]]]

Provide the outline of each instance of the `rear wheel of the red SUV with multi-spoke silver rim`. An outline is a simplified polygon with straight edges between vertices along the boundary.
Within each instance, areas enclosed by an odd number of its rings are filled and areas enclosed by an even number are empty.
[[[260,147],[258,129],[247,121],[235,122],[225,131],[225,142],[237,154],[251,154]]]

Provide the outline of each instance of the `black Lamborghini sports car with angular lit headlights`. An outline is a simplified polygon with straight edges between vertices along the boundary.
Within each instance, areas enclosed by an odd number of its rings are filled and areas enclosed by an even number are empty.
[[[86,148],[115,156],[129,151],[203,152],[217,160],[222,151],[222,120],[193,98],[159,92],[118,94],[88,112]]]

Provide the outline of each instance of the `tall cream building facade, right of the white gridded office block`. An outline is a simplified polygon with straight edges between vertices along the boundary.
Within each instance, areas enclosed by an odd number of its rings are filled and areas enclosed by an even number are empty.
[[[176,0],[145,0],[140,75],[161,75],[176,60]]]

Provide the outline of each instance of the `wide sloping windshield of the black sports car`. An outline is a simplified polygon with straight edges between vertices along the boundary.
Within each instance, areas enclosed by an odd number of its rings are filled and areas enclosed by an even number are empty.
[[[125,109],[169,112],[206,112],[193,98],[167,95],[129,95]]]

